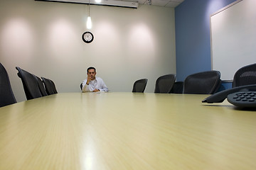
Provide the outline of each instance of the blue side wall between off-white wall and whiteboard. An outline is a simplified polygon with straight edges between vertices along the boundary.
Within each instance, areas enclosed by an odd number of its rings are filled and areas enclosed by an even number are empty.
[[[185,0],[175,8],[177,81],[211,69],[210,15],[234,1]]]

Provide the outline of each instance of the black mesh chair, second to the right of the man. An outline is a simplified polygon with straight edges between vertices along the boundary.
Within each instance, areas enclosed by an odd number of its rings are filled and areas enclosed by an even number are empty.
[[[156,79],[154,93],[170,94],[176,80],[175,74],[166,74]]]

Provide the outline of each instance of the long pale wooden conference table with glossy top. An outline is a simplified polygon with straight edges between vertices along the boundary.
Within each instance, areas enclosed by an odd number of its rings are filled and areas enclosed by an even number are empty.
[[[206,96],[70,93],[0,108],[0,169],[256,169],[256,112]]]

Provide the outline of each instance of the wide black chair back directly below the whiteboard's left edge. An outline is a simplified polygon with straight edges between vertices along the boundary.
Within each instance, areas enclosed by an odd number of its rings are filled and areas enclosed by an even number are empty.
[[[220,83],[219,71],[191,74],[184,81],[183,94],[214,94]]]

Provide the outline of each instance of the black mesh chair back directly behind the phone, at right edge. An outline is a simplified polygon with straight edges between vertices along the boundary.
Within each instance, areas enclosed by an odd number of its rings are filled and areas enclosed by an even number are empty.
[[[233,78],[232,87],[256,84],[256,63],[238,69]]]

